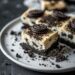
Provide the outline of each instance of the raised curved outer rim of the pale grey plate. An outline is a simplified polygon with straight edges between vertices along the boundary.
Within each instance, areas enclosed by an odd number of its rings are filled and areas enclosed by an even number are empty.
[[[30,70],[34,70],[34,71],[38,71],[38,72],[45,72],[45,73],[61,73],[61,72],[68,72],[68,71],[72,71],[75,69],[75,66],[73,67],[70,67],[70,68],[59,68],[59,69],[56,69],[56,70],[49,70],[49,69],[38,69],[37,67],[32,67],[31,65],[30,66],[26,66],[24,63],[21,63],[21,61],[18,61],[16,59],[14,59],[11,55],[9,55],[3,48],[2,46],[2,42],[1,42],[1,37],[2,37],[2,34],[4,32],[4,30],[6,28],[8,28],[12,23],[15,23],[16,21],[20,20],[20,17],[10,21],[9,23],[7,23],[1,30],[0,32],[0,48],[1,48],[1,52],[9,59],[11,60],[12,62],[14,62],[15,64],[21,66],[21,67],[24,67],[24,68],[27,68],[27,69],[30,69]]]

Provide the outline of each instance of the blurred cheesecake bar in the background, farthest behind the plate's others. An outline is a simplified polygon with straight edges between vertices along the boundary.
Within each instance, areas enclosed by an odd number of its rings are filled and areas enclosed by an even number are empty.
[[[64,11],[67,6],[64,0],[42,0],[41,8],[43,10],[61,10]]]

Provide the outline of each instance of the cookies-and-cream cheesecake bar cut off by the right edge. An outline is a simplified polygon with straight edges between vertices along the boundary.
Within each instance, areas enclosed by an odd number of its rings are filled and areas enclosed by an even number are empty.
[[[60,37],[62,42],[75,48],[75,18],[71,18],[71,20],[63,26],[60,31]]]

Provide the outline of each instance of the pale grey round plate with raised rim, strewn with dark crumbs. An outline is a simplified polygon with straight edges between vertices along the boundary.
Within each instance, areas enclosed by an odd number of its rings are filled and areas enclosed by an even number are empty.
[[[15,31],[17,34],[21,32],[22,23],[20,18],[17,18],[8,23],[0,33],[0,47],[3,54],[12,60],[14,63],[40,72],[56,73],[66,72],[75,69],[75,53],[71,50],[68,55],[68,60],[62,62],[56,62],[55,58],[48,58],[42,60],[42,56],[35,54],[35,58],[31,58],[20,46],[21,37],[10,35],[11,31]],[[18,56],[18,57],[17,57]]]

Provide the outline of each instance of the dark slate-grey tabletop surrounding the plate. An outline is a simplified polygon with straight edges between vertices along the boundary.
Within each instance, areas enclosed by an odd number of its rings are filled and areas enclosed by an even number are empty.
[[[75,0],[66,0],[69,2],[69,11],[75,12]],[[4,27],[6,23],[12,19],[20,16],[27,7],[23,5],[23,0],[0,0],[0,30]],[[61,73],[74,75],[75,71]],[[0,75],[48,75],[46,73],[34,72],[22,68],[15,63],[8,60],[0,51]],[[58,74],[53,74],[58,75]]]

